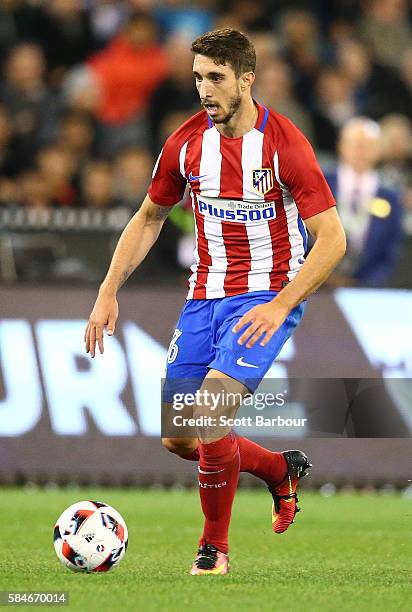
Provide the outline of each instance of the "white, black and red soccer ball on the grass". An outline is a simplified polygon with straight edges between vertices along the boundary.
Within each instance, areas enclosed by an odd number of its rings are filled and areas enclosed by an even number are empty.
[[[57,519],[54,548],[74,572],[107,572],[123,559],[128,541],[126,523],[107,504],[94,501],[69,506]]]

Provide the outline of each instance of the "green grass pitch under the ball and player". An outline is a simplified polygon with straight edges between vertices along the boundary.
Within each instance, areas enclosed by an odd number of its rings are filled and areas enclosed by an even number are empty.
[[[271,532],[270,498],[240,489],[231,572],[188,575],[201,527],[196,491],[0,489],[0,590],[64,590],[74,610],[412,609],[412,500],[303,492],[288,532]],[[54,522],[102,500],[124,516],[129,548],[107,574],[75,574],[55,556]],[[63,608],[63,609],[67,609]]]

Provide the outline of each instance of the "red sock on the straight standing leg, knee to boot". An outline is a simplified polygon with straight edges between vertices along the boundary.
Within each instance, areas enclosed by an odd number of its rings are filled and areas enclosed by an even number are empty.
[[[199,491],[205,526],[202,539],[228,552],[232,504],[239,480],[239,447],[230,433],[210,444],[199,444]]]

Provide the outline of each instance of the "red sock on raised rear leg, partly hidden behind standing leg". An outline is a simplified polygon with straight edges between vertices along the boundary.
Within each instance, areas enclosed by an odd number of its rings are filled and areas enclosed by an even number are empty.
[[[286,477],[286,460],[282,453],[276,453],[255,444],[247,438],[237,436],[240,453],[240,471],[249,472],[268,484],[281,482]],[[182,459],[199,461],[199,448]]]

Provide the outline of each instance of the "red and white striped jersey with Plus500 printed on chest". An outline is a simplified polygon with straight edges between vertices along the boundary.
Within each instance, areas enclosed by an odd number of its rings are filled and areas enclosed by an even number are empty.
[[[286,117],[256,104],[255,127],[222,136],[205,111],[166,141],[148,194],[179,202],[191,189],[196,228],[188,299],[280,291],[304,263],[303,219],[335,202],[303,134]]]

